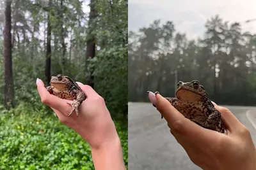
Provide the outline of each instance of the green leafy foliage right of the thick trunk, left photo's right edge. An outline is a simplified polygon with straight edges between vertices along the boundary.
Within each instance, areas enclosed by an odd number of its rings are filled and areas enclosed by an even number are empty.
[[[97,19],[92,34],[96,56],[87,66],[95,68],[95,90],[104,97],[113,118],[127,122],[128,4],[127,1],[96,1]]]

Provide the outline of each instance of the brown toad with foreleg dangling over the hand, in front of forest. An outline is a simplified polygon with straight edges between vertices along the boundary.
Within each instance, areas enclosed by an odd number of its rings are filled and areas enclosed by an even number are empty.
[[[61,99],[73,100],[72,103],[68,103],[72,106],[71,112],[68,117],[72,115],[73,111],[76,111],[78,117],[78,108],[86,99],[83,90],[68,76],[63,76],[58,74],[57,76],[52,76],[51,86],[46,87],[50,94],[60,97]]]

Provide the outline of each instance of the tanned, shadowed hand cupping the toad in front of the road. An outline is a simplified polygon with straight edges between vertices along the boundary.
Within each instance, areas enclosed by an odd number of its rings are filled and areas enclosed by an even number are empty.
[[[150,96],[177,142],[197,166],[205,170],[256,169],[256,149],[248,129],[227,108],[221,112],[227,135],[200,127],[185,118],[163,96]]]

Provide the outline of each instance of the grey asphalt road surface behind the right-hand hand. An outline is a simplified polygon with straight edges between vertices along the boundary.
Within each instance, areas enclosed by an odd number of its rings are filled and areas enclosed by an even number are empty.
[[[256,146],[256,107],[225,106],[252,134]],[[250,111],[248,111],[250,110]],[[247,114],[246,114],[247,112]],[[170,134],[164,119],[150,103],[129,103],[129,170],[195,170],[185,150]],[[246,116],[247,115],[247,116]]]

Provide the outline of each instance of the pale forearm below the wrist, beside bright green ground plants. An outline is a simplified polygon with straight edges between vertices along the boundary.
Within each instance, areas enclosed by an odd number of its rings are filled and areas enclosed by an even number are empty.
[[[96,170],[125,169],[122,146],[118,136],[104,148],[92,148],[92,159]]]

